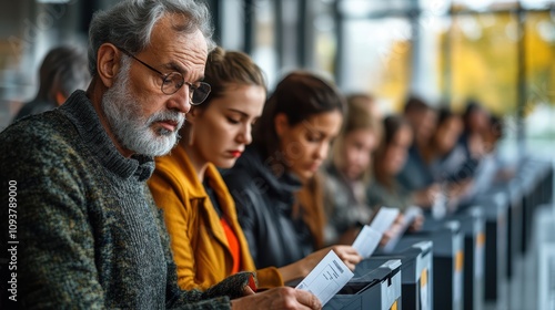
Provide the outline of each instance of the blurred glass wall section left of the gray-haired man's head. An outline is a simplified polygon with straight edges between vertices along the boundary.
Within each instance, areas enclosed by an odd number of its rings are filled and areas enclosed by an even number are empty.
[[[83,1],[2,2],[0,10],[0,131],[38,91],[38,68],[59,44],[85,49]]]

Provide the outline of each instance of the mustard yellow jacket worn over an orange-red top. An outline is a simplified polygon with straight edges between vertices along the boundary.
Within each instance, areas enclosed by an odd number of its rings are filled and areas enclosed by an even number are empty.
[[[210,164],[204,176],[238,236],[241,271],[255,271],[259,288],[282,286],[283,280],[276,268],[255,270],[238,221],[235,204],[215,166]],[[183,147],[178,146],[171,155],[157,158],[149,186],[157,205],[164,210],[180,287],[204,290],[230,276],[233,257],[228,238]]]

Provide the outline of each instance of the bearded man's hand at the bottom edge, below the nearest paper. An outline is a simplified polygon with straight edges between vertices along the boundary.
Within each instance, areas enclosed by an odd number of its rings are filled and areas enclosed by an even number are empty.
[[[231,309],[322,309],[320,300],[309,291],[289,287],[274,288],[231,301]]]

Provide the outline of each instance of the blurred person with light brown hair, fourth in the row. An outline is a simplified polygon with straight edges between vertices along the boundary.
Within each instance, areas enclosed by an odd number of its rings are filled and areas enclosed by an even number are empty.
[[[360,227],[372,217],[366,187],[381,134],[381,123],[372,112],[357,97],[347,99],[345,124],[325,167],[326,244],[352,244]]]

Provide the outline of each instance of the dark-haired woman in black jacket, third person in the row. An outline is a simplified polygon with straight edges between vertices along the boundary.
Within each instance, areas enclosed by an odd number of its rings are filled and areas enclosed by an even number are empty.
[[[317,225],[310,225],[306,214],[314,210],[300,205],[295,193],[327,156],[343,110],[331,84],[311,73],[289,74],[269,99],[253,145],[224,174],[256,267],[287,266],[305,257],[317,262],[330,250],[313,252],[319,231],[311,228]],[[351,268],[361,259],[351,246],[334,250]]]

